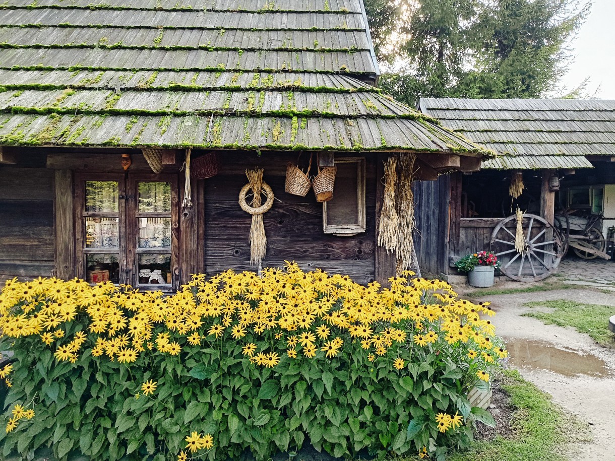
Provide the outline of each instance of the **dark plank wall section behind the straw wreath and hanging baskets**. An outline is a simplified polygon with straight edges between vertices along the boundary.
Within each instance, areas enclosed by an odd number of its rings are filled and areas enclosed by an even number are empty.
[[[316,202],[312,191],[306,197],[284,191],[287,162],[296,160],[297,156],[296,152],[288,155],[263,152],[261,157],[249,152],[224,152],[220,173],[205,179],[205,272],[208,275],[230,267],[256,270],[250,266],[248,243],[252,216],[239,207],[237,200],[240,189],[247,184],[245,169],[261,167],[264,181],[276,196],[271,210],[263,215],[267,236],[263,266],[282,266],[285,260],[294,260],[306,270],[320,267],[330,273],[348,274],[359,283],[374,280],[375,159],[367,157],[366,164],[367,230],[352,237],[339,237],[323,233],[322,203]],[[304,167],[307,156],[301,157]]]

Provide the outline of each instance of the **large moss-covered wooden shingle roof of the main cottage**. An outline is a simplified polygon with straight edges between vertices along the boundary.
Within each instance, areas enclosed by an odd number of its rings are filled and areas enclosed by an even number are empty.
[[[373,87],[361,0],[0,8],[0,144],[485,153]]]

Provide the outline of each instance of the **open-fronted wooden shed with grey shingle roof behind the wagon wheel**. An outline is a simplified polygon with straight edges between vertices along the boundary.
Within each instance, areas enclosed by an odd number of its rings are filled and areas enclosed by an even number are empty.
[[[423,98],[419,109],[498,154],[483,161],[478,173],[453,173],[416,185],[417,208],[432,210],[417,215],[421,267],[457,274],[454,262],[493,248],[496,227],[517,205],[551,224],[559,203],[574,213],[601,213],[605,219],[593,226],[608,237],[615,226],[615,101]],[[509,195],[514,175],[525,186],[516,200]],[[574,191],[581,199],[573,197]],[[555,224],[562,223],[556,219]],[[542,262],[536,261],[534,269]],[[529,266],[523,272],[528,280],[536,278]]]

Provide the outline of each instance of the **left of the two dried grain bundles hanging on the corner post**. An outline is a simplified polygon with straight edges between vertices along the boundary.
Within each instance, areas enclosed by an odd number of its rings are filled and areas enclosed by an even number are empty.
[[[397,187],[397,157],[384,160],[384,197],[383,209],[378,223],[378,245],[389,251],[399,247],[399,215],[395,206],[395,187]]]

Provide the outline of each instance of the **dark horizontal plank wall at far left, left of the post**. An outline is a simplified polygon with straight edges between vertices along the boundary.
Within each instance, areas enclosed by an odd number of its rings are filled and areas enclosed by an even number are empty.
[[[54,269],[54,171],[0,165],[0,283]]]

